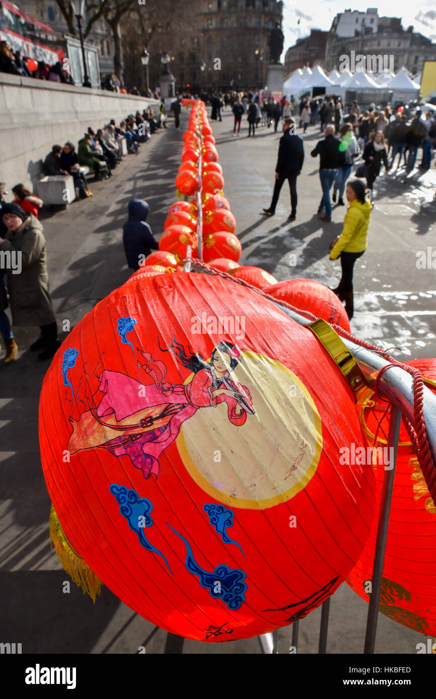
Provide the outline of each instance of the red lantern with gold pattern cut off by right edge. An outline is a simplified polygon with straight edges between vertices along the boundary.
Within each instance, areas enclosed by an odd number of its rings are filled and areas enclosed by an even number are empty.
[[[436,394],[436,359],[419,359],[407,364],[421,370],[426,385]],[[369,464],[360,468],[374,470],[376,515],[365,548],[346,582],[367,602],[370,599],[381,488],[385,467],[390,467],[391,454],[386,441],[388,416],[381,421],[377,439],[379,451],[371,455],[370,447],[374,445],[377,424],[386,405],[377,394],[367,389],[356,406],[367,440],[364,447],[367,448],[364,460],[357,451],[352,460]],[[436,635],[436,505],[403,424],[395,465],[379,611],[403,626],[429,636]]]

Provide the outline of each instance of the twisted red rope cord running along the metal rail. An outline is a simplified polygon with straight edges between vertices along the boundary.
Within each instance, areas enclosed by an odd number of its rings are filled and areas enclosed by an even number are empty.
[[[190,261],[192,264],[195,264],[199,267],[203,267],[204,269],[218,277],[222,277],[223,279],[227,279],[232,282],[236,282],[237,284],[241,284],[241,286],[248,287],[248,289],[252,289],[257,294],[260,294],[260,296],[267,298],[269,301],[279,303],[283,306],[283,308],[288,308],[289,310],[292,310],[295,313],[307,317],[309,320],[313,321],[317,319],[317,316],[313,313],[310,313],[307,310],[302,310],[301,308],[297,308],[296,306],[293,306],[290,303],[287,303],[286,301],[279,301],[278,299],[274,298],[274,296],[265,294],[265,291],[262,291],[262,289],[258,289],[258,287],[253,287],[252,284],[248,284],[248,282],[242,279],[234,278],[232,275],[227,274],[227,272],[222,272],[218,269],[215,269],[203,262],[202,260],[191,258]],[[433,462],[433,458],[430,452],[430,445],[428,443],[426,431],[426,421],[424,419],[423,414],[424,383],[421,371],[416,367],[407,366],[407,364],[403,364],[402,362],[397,361],[382,347],[377,347],[377,345],[367,343],[366,340],[360,340],[359,338],[354,337],[353,335],[351,335],[351,333],[344,330],[339,325],[331,324],[331,326],[340,336],[346,338],[346,340],[350,340],[351,342],[356,343],[356,345],[365,347],[365,349],[371,349],[372,351],[378,352],[379,354],[381,354],[381,356],[383,356],[387,361],[390,362],[387,366],[382,367],[379,373],[377,374],[374,384],[374,393],[376,392],[376,389],[378,387],[381,375],[387,369],[397,367],[407,371],[407,373],[412,375],[414,387],[414,424],[412,425],[412,423],[404,415],[402,416],[402,420],[405,424],[407,432],[409,433],[409,438],[412,442],[412,447],[418,459],[419,466],[421,467],[423,477],[426,480],[428,491],[430,493],[430,496],[433,498],[433,502],[436,505],[436,466]]]

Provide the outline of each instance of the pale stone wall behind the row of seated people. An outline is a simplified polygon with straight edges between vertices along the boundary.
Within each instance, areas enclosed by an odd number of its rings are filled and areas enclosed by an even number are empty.
[[[41,161],[54,143],[76,144],[91,127],[97,131],[158,101],[146,97],[75,87],[0,73],[0,182],[10,189],[41,173]],[[6,199],[10,201],[10,196]]]

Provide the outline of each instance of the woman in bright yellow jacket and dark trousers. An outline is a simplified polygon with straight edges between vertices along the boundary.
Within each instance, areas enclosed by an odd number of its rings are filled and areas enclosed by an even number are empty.
[[[344,229],[335,240],[330,251],[330,259],[341,258],[342,277],[335,294],[345,301],[349,319],[353,317],[353,267],[368,247],[368,226],[372,203],[365,199],[365,185],[360,180],[351,180],[346,185],[346,199],[349,208],[344,218]]]

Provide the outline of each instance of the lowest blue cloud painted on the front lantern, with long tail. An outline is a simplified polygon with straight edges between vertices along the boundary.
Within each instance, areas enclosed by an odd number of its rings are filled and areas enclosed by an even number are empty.
[[[239,610],[241,604],[245,602],[245,592],[247,589],[247,585],[244,582],[246,577],[244,570],[239,570],[238,568],[232,570],[224,564],[217,565],[212,572],[203,570],[195,561],[192,555],[192,549],[185,537],[173,529],[171,524],[168,524],[168,526],[185,544],[185,565],[189,572],[192,572],[192,575],[198,575],[200,585],[206,590],[209,590],[211,597],[223,600],[230,610]],[[219,583],[219,585],[217,583]]]

